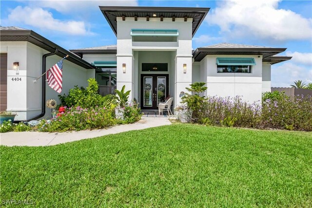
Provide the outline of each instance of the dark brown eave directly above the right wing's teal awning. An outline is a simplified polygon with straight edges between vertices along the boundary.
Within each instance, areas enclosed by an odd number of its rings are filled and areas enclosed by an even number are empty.
[[[201,61],[207,55],[262,55],[265,59],[285,50],[286,48],[197,48],[193,58]]]

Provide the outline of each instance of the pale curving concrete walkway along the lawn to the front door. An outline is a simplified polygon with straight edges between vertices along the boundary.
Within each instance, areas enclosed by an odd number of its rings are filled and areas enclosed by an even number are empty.
[[[137,123],[113,126],[101,130],[78,132],[7,132],[0,133],[0,145],[5,146],[51,146],[81,139],[94,138],[107,134],[141,130],[151,127],[170,125],[168,117],[142,117]]]

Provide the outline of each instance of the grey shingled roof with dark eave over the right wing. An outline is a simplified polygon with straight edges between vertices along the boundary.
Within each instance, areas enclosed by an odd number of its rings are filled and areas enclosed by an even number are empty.
[[[193,52],[195,61],[201,61],[207,55],[262,55],[263,59],[282,53],[287,48],[271,48],[233,43],[220,43],[197,48]]]

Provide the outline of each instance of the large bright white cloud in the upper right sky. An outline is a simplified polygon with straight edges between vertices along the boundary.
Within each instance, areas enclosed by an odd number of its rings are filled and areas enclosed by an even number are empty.
[[[206,21],[231,38],[304,40],[312,38],[312,19],[278,9],[280,0],[222,1]]]

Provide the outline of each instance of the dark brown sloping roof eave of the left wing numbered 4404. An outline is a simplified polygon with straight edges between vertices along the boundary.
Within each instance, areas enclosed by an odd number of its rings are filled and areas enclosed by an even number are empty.
[[[40,36],[38,33],[32,30],[1,30],[0,41],[28,41],[49,52],[54,52],[55,49],[58,49],[58,53],[56,54],[57,56],[65,57],[66,55],[68,55],[69,57],[66,59],[72,63],[75,63],[85,69],[95,68],[90,63],[82,60],[75,54],[72,54],[71,52],[60,47],[59,45],[48,40],[47,38]]]

